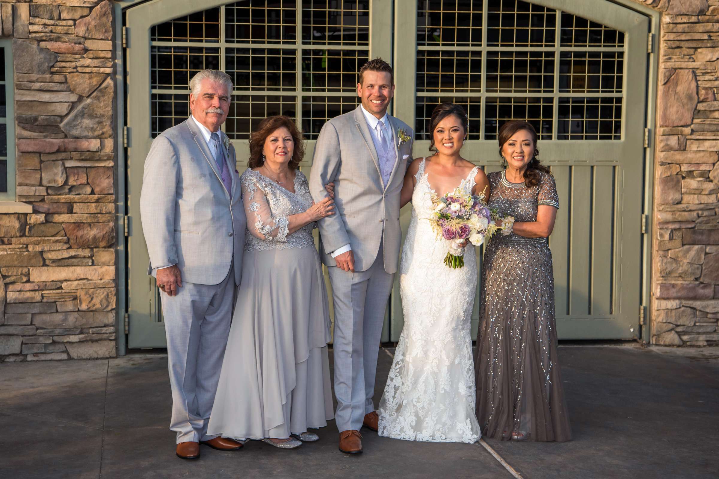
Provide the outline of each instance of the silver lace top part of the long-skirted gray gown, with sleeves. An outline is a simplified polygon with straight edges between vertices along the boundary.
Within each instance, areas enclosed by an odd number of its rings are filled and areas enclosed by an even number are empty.
[[[291,234],[288,230],[288,217],[303,213],[312,206],[307,177],[300,170],[295,171],[295,192],[252,169],[245,170],[239,181],[247,215],[244,251],[303,246],[314,248],[312,230],[317,223],[310,223]]]

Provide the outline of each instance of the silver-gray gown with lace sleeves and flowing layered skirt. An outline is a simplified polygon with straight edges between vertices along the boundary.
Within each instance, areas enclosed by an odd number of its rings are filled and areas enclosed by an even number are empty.
[[[208,434],[284,438],[334,417],[316,224],[288,234],[288,216],[307,210],[312,197],[299,171],[294,193],[250,169],[240,181],[247,213],[242,283]]]

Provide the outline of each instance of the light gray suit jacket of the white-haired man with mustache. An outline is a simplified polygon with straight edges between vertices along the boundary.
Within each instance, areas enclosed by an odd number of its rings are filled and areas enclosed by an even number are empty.
[[[244,228],[247,220],[235,170],[234,148],[224,146],[232,172],[227,192],[213,154],[195,121],[167,129],[152,141],[145,159],[140,214],[150,266],[177,264],[183,282],[219,284],[234,264],[234,282],[242,278]]]

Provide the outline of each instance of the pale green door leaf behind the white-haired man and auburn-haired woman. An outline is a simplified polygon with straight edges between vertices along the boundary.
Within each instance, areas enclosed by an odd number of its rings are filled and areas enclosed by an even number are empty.
[[[192,75],[219,68],[233,78],[223,129],[234,141],[240,174],[250,132],[262,118],[283,114],[308,139],[301,170],[309,175],[321,126],[358,104],[359,68],[370,57],[391,56],[391,19],[385,0],[155,0],[127,11],[129,348],[165,347],[157,287],[147,276],[139,192],[152,139],[190,113]]]

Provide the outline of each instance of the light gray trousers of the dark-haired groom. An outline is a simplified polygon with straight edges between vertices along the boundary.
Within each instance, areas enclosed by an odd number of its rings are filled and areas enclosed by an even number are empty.
[[[370,269],[343,271],[329,266],[334,300],[334,419],[340,432],[362,427],[375,410],[375,373],[385,310],[394,274],[384,266],[384,248]]]

